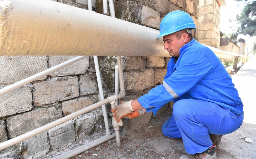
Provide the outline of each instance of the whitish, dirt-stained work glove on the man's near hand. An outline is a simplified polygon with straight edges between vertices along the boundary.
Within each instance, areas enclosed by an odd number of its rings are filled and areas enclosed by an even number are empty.
[[[127,116],[128,114],[134,112],[132,108],[132,101],[130,100],[128,102],[121,101],[121,104],[119,104],[115,109],[111,110],[114,116],[116,118],[116,121],[119,122],[124,116]]]

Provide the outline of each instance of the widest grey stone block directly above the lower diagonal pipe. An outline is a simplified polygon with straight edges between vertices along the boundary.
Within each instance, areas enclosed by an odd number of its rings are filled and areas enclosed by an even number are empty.
[[[9,137],[14,138],[32,131],[62,117],[60,104],[49,108],[36,108],[30,112],[11,116],[6,119]]]

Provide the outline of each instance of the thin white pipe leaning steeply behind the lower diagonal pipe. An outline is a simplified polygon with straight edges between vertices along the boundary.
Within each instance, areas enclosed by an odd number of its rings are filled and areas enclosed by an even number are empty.
[[[98,63],[98,56],[93,56],[93,59],[94,59],[96,76],[97,76],[100,100],[104,100],[104,94],[103,94],[102,83],[101,83],[101,75],[100,75],[100,69],[99,69],[99,63]],[[102,107],[102,113],[103,113],[105,128],[106,128],[106,135],[110,135],[106,105],[103,104],[101,107]]]

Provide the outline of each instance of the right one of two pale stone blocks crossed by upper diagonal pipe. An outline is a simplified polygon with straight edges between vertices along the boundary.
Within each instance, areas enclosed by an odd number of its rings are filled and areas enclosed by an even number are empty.
[[[63,62],[66,62],[75,57],[77,56],[48,56],[49,68],[54,67]],[[57,70],[49,74],[49,76],[69,76],[69,75],[76,75],[76,74],[85,74],[89,66],[90,66],[89,57],[87,57],[67,67],[61,68],[60,70]]]

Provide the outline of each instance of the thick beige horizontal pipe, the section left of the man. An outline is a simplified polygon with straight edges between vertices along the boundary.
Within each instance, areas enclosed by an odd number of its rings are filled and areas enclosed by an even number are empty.
[[[169,56],[159,31],[51,0],[1,0],[0,55]]]

